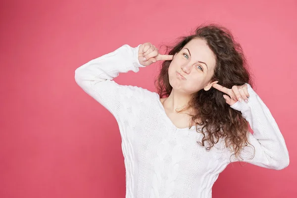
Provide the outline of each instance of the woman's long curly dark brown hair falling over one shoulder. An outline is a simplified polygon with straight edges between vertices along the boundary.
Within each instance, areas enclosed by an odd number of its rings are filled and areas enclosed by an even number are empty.
[[[200,25],[194,34],[182,36],[173,46],[166,47],[169,55],[178,53],[193,39],[203,39],[215,54],[215,68],[211,81],[231,89],[248,83],[252,87],[252,79],[247,66],[247,59],[239,43],[234,40],[232,33],[225,27],[217,24]],[[161,64],[160,72],[155,79],[155,86],[161,98],[168,97],[172,91],[169,84],[168,68],[171,60]],[[240,111],[230,107],[223,98],[223,93],[211,88],[208,91],[199,90],[189,101],[189,107],[195,109],[192,123],[196,123],[196,131],[203,134],[201,146],[209,143],[207,150],[212,148],[220,138],[224,138],[225,146],[232,148],[235,156],[240,155],[243,147],[247,146],[248,122],[242,117]],[[215,112],[215,113],[214,113]],[[201,122],[196,122],[198,118]],[[202,128],[198,128],[198,125]],[[191,127],[191,124],[189,128]]]

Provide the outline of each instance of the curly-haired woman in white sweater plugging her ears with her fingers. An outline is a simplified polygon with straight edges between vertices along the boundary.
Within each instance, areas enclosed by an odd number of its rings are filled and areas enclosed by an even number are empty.
[[[156,61],[163,61],[158,94],[113,81]],[[117,120],[126,198],[211,198],[230,162],[275,170],[289,165],[278,125],[224,27],[200,26],[168,55],[150,43],[123,45],[77,68],[75,80]]]

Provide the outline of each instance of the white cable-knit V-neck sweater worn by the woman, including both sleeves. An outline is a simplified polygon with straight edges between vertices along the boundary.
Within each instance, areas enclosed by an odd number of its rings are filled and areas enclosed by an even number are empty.
[[[166,115],[159,95],[113,81],[119,73],[138,72],[139,46],[120,48],[75,70],[76,83],[115,117],[122,138],[126,168],[126,198],[211,198],[211,189],[226,166],[238,161],[219,141],[209,151],[193,126],[180,129]],[[248,85],[248,84],[247,84]],[[248,103],[231,107],[242,112],[253,135],[243,161],[280,170],[289,165],[284,138],[269,109],[248,85]],[[231,156],[232,155],[232,156]]]

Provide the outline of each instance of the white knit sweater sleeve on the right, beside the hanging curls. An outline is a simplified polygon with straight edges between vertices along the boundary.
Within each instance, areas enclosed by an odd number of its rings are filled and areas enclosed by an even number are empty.
[[[248,141],[252,146],[248,145],[243,148],[240,155],[242,158],[236,159],[233,155],[231,161],[245,161],[275,170],[284,169],[289,165],[290,160],[280,129],[268,107],[249,84],[247,84],[247,91],[249,94],[248,102],[237,101],[231,105],[231,108],[241,111],[242,116],[253,130],[253,134],[247,131]]]

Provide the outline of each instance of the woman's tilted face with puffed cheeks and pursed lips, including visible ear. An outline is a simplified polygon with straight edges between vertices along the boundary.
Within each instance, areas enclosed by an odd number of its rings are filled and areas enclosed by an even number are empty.
[[[173,56],[168,68],[169,83],[181,93],[191,95],[209,90],[213,83],[215,56],[202,39],[191,40]],[[181,76],[182,75],[182,76]]]

